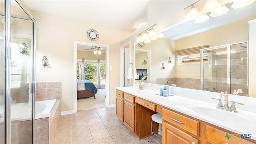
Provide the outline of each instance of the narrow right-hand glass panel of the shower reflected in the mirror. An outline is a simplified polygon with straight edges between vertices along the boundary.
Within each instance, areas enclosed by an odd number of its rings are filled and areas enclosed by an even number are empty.
[[[230,46],[231,93],[241,89],[240,96],[247,96],[247,42]]]

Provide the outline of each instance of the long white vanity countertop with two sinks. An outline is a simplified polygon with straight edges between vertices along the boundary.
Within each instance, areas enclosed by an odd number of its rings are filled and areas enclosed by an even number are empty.
[[[200,96],[198,96],[200,95],[199,94],[200,92],[204,94],[206,94],[207,92],[194,90],[198,92],[198,94],[196,94],[194,92],[186,92],[186,90],[190,90],[190,89],[184,88],[184,93],[190,96],[180,96],[180,95],[178,96],[178,95],[175,95],[177,93],[175,92],[176,91],[175,89],[170,89],[169,93],[173,94],[173,96],[164,97],[164,96],[158,95],[159,94],[158,91],[145,89],[145,88],[144,90],[139,90],[138,87],[134,87],[134,86],[118,87],[116,89],[132,94],[134,96],[138,96],[145,100],[149,100],[156,104],[160,104],[162,106],[165,106],[166,108],[176,110],[178,112],[181,112],[188,116],[192,116],[194,118],[208,122],[210,124],[214,124],[216,126],[230,130],[232,132],[236,132],[238,134],[247,134],[247,135],[250,134],[251,138],[256,140],[255,111],[239,109],[239,107],[242,108],[242,106],[238,106],[238,104],[236,104],[238,113],[219,110],[216,108],[218,104],[218,100],[211,100],[212,96],[209,96],[211,93],[209,93],[209,95],[205,95],[204,97],[200,98]],[[176,88],[176,89],[183,89],[183,88]],[[218,93],[215,93],[215,94],[218,94]],[[215,98],[218,98],[218,97],[215,97]],[[232,98],[230,98],[230,100],[232,100]],[[255,103],[255,100],[253,101],[253,104]],[[243,101],[243,102],[246,102],[246,101]],[[231,102],[229,103],[229,105],[231,105]],[[246,105],[246,103],[244,105]],[[200,112],[195,112],[194,110],[199,110]],[[212,112],[208,110],[214,110],[214,111]]]

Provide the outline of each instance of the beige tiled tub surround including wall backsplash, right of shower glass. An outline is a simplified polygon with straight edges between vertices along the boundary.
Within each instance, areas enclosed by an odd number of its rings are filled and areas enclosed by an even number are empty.
[[[50,114],[36,116],[36,144],[51,144],[60,117],[61,82],[36,83],[36,101],[56,99]]]

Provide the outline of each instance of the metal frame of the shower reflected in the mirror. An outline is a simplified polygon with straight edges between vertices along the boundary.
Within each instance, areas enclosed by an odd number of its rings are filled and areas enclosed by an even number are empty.
[[[210,48],[203,48],[200,49],[200,68],[201,68],[201,90],[204,90],[204,57],[203,57],[203,51],[205,50],[216,50],[220,48],[227,48],[227,88],[231,92],[231,45],[234,44],[242,44],[242,43],[247,43],[247,96],[248,96],[248,41],[246,42],[236,42],[232,44],[225,44],[222,46],[214,46]],[[230,93],[228,92],[228,93]],[[231,94],[231,93],[230,93]]]

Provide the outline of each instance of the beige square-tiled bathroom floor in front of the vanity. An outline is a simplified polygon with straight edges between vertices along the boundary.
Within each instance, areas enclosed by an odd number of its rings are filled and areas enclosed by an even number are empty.
[[[52,144],[159,144],[139,140],[116,117],[116,108],[96,108],[60,116]]]

